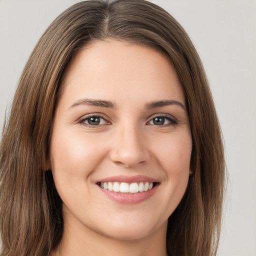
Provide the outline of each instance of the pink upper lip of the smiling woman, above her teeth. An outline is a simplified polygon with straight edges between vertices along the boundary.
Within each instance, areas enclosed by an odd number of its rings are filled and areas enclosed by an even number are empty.
[[[100,180],[97,180],[95,183],[98,182],[126,182],[126,183],[132,183],[132,182],[159,182],[158,180],[144,176],[144,175],[135,175],[135,176],[124,176],[124,175],[118,175],[118,176],[111,176],[102,178]]]

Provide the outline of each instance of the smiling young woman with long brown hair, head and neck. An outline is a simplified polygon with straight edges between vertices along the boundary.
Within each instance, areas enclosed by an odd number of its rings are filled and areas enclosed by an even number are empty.
[[[155,4],[60,14],[25,65],[0,150],[2,255],[216,254],[220,128],[190,39]]]

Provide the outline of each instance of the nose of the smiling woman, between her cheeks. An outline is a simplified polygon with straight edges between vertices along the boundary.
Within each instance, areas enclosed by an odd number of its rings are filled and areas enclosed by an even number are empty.
[[[120,128],[112,141],[110,158],[116,164],[131,168],[150,159],[147,141],[136,127]]]

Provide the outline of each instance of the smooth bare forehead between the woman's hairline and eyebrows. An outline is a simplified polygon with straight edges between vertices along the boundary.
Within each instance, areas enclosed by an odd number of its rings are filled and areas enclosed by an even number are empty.
[[[114,101],[129,96],[148,101],[169,97],[184,103],[182,87],[170,62],[157,50],[127,41],[96,41],[69,64],[62,93]]]

